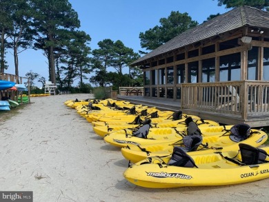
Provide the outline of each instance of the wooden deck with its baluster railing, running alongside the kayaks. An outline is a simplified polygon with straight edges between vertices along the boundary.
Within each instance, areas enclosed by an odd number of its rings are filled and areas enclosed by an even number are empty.
[[[269,82],[228,81],[217,83],[183,83],[181,100],[121,96],[117,99],[156,106],[161,110],[181,110],[201,119],[251,127],[269,125]]]

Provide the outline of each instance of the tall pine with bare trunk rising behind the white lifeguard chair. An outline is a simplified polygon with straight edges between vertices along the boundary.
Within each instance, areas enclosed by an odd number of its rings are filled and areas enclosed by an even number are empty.
[[[44,50],[48,57],[49,78],[56,83],[55,48],[62,45],[59,35],[70,34],[80,27],[78,14],[68,0],[31,0],[34,9],[34,28],[39,32],[35,47]]]

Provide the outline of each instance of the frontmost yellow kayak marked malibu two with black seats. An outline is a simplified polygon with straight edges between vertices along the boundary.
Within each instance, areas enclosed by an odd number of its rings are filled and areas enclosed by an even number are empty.
[[[123,176],[145,188],[247,183],[269,177],[268,152],[269,147],[257,149],[245,144],[217,154],[186,154],[177,149],[173,157],[155,156],[130,165]],[[252,156],[259,156],[259,159]]]

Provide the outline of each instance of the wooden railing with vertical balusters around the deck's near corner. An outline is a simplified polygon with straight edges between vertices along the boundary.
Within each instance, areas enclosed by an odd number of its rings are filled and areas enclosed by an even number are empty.
[[[181,108],[240,115],[269,115],[268,81],[181,84]]]

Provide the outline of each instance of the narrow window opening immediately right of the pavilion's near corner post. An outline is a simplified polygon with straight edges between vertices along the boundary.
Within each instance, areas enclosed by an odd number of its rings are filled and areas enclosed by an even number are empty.
[[[259,47],[248,50],[248,80],[257,80]]]

